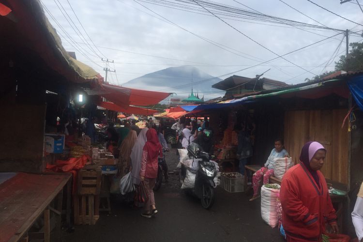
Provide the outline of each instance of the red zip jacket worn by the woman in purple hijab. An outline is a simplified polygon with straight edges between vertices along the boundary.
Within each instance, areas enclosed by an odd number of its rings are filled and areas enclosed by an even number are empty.
[[[282,179],[282,221],[290,241],[321,241],[321,234],[325,233],[325,224],[336,223],[335,210],[325,178],[320,171],[318,176],[320,187],[306,167],[300,163],[287,170]]]

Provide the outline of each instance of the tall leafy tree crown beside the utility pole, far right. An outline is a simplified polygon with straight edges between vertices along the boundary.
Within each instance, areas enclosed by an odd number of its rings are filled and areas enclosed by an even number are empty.
[[[352,48],[348,55],[348,70],[346,56],[340,56],[339,61],[335,62],[335,71],[361,71],[363,70],[363,43],[350,43]]]

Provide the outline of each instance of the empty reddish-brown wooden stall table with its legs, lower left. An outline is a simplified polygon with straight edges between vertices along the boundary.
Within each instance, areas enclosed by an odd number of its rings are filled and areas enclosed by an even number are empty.
[[[0,173],[1,176],[1,173]],[[44,239],[50,241],[50,212],[56,215],[56,233],[60,235],[63,187],[68,183],[68,173],[16,173],[0,184],[0,242]],[[51,202],[58,197],[57,210]],[[69,196],[67,196],[69,197]],[[67,202],[67,207],[70,203]],[[44,232],[29,233],[34,222],[44,216]],[[69,213],[70,214],[70,213]],[[68,213],[67,213],[68,215]],[[67,216],[68,220],[68,216]],[[52,239],[56,241],[57,239]]]

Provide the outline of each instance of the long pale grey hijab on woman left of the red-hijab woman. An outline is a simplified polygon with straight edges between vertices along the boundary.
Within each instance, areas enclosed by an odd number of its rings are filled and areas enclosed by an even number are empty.
[[[146,132],[148,131],[148,128],[143,128],[140,131],[140,134],[138,134],[135,145],[132,148],[130,158],[132,162],[132,170],[131,170],[131,176],[133,178],[134,184],[140,184],[140,168],[141,168],[141,155],[142,155],[142,149],[145,146],[145,143],[147,141],[146,139]]]

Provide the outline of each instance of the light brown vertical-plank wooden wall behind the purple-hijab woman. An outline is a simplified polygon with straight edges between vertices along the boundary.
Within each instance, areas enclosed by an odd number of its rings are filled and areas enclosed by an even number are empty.
[[[318,141],[327,155],[321,172],[325,178],[348,184],[348,125],[343,126],[347,109],[298,110],[285,112],[285,147],[295,164],[302,146]]]

